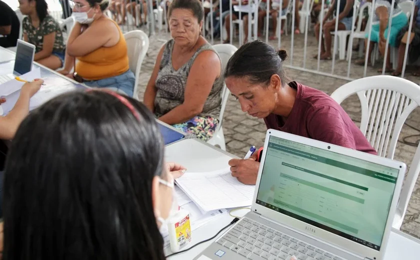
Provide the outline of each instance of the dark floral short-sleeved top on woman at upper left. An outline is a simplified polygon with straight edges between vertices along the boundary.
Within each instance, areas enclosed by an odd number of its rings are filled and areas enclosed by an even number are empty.
[[[27,34],[28,42],[35,45],[35,52],[41,51],[43,46],[43,36],[55,32],[55,41],[53,52],[64,52],[65,44],[62,37],[62,31],[58,23],[47,14],[39,27],[35,28],[29,16],[23,18],[22,21],[23,33]]]

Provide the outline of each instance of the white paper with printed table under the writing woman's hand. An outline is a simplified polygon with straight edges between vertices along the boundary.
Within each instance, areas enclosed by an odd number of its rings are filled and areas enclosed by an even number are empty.
[[[255,185],[245,185],[232,177],[229,168],[186,172],[175,181],[203,211],[249,206],[255,190]]]

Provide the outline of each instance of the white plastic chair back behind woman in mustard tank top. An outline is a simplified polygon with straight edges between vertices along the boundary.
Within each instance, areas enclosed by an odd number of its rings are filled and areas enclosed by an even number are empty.
[[[133,97],[138,99],[138,77],[140,74],[141,63],[147,53],[149,40],[147,34],[142,30],[131,30],[124,33],[125,41],[127,42],[127,54],[130,70],[135,75]]]

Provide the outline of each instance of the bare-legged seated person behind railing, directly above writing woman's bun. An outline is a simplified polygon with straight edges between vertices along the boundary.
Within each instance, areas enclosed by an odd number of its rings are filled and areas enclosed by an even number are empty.
[[[273,0],[270,1],[270,8],[269,12],[272,18],[272,28],[273,28],[273,35],[269,37],[270,40],[276,39],[276,30],[277,30],[277,19],[278,19],[278,10],[280,9],[280,1],[281,0]],[[281,6],[281,16],[286,15],[287,13],[287,7],[289,0],[283,0],[282,6]],[[267,2],[266,0],[262,0],[259,4],[259,11],[258,11],[258,34],[262,31],[262,25],[264,25],[264,19],[266,21],[266,14],[267,14]],[[284,22],[281,22],[281,31],[280,33],[283,34],[283,27]],[[259,35],[258,35],[259,36]]]

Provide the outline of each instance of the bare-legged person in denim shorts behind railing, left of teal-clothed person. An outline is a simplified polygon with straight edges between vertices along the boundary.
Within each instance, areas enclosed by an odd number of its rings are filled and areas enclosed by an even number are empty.
[[[354,0],[333,0],[331,8],[328,9],[325,17],[322,20],[322,33],[321,36],[321,50],[319,59],[331,59],[331,44],[332,36],[331,31],[335,31],[335,18],[327,21],[329,17],[337,14],[337,2],[340,1],[339,14],[338,14],[338,26],[337,30],[351,30],[353,22],[353,4]],[[315,25],[315,37],[316,42],[319,41],[319,26],[320,23]],[[338,43],[337,43],[338,44]],[[313,58],[318,58],[318,54],[315,54]]]

